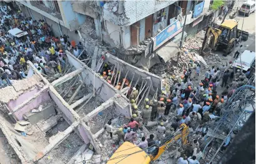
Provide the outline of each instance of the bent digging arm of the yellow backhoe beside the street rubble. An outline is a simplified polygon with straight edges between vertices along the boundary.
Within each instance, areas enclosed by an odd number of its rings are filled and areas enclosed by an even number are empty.
[[[209,36],[211,36],[211,34],[212,34],[212,39],[210,40],[209,47],[214,49],[215,46],[217,45],[221,32],[222,31],[220,31],[219,29],[215,29],[214,27],[208,26],[207,31],[205,33],[204,42],[202,44],[201,52],[204,51],[207,41],[209,39]]]

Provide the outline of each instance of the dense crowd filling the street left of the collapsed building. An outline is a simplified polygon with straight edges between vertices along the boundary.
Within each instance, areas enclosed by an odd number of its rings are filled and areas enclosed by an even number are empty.
[[[57,74],[65,69],[66,50],[76,57],[81,52],[82,47],[75,41],[69,42],[69,36],[54,36],[51,26],[43,20],[25,17],[21,11],[6,5],[1,6],[0,15],[1,87],[11,85],[12,80],[26,78],[27,60],[42,74]],[[8,32],[16,28],[27,34],[16,37]]]

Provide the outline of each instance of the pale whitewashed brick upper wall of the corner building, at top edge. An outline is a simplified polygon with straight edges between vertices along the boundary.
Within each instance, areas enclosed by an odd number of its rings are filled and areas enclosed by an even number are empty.
[[[124,10],[126,17],[129,19],[129,25],[134,24],[141,19],[154,14],[164,7],[173,4],[174,1],[124,1]]]

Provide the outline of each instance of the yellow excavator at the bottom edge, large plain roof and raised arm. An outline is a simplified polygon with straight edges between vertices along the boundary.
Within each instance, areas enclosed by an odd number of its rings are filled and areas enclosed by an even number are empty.
[[[180,128],[177,129],[172,136],[165,139],[163,143],[155,145],[155,148],[153,148],[154,150],[150,151],[151,153],[146,153],[144,150],[137,147],[137,145],[130,142],[124,142],[116,152],[114,152],[107,164],[149,164],[151,161],[159,159],[162,153],[177,140],[181,139],[182,145],[186,145],[188,135],[189,128],[185,123],[182,123]]]

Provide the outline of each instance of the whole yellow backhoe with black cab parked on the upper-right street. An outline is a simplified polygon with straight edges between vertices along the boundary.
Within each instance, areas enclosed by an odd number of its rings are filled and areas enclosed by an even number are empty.
[[[234,19],[227,19],[217,28],[209,26],[205,32],[201,54],[209,55],[212,49],[229,54],[240,39],[246,41],[249,33],[237,29],[237,25],[238,22]],[[242,37],[240,37],[241,35]]]

